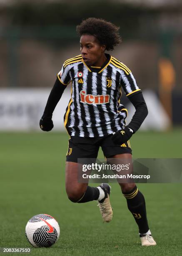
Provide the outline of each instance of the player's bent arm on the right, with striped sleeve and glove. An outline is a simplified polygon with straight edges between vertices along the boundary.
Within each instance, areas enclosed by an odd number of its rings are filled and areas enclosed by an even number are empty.
[[[132,73],[125,75],[122,80],[122,87],[128,99],[135,107],[135,114],[133,115],[131,122],[125,126],[123,130],[117,131],[117,133],[112,136],[112,140],[119,145],[131,138],[132,134],[140,128],[148,114],[142,91],[137,86]]]

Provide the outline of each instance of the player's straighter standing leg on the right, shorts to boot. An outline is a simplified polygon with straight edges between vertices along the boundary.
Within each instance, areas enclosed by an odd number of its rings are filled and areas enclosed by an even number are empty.
[[[112,135],[111,135],[112,136]],[[132,150],[130,148],[130,142],[124,143],[124,145],[115,145],[111,140],[111,136],[108,136],[103,140],[102,151],[107,159],[122,159],[122,161],[132,161]],[[115,161],[114,161],[115,162]],[[117,161],[118,163],[118,161]],[[129,171],[130,173],[132,171]],[[127,200],[127,206],[132,213],[135,221],[139,227],[139,233],[141,236],[142,245],[156,245],[152,238],[150,229],[147,222],[147,213],[145,206],[145,198],[138,190],[135,183],[120,183],[122,194]]]

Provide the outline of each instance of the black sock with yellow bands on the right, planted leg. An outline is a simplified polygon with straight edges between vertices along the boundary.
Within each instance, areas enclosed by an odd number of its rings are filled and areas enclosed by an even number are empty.
[[[145,234],[149,230],[147,223],[147,212],[145,207],[145,198],[135,186],[130,192],[123,194],[127,200],[127,206],[139,228],[140,234]]]

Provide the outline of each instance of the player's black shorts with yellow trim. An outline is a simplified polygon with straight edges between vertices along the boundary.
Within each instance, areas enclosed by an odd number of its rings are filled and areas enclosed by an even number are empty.
[[[132,154],[130,141],[125,142],[121,146],[115,145],[111,137],[112,134],[97,138],[71,136],[68,141],[66,161],[77,163],[78,158],[96,159],[100,147],[106,158],[112,158],[112,156],[117,154]]]

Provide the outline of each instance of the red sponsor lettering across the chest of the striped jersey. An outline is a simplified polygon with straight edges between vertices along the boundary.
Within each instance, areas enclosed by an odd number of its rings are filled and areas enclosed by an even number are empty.
[[[106,104],[110,100],[110,95],[92,95],[86,94],[85,91],[80,92],[80,102],[85,104]]]

